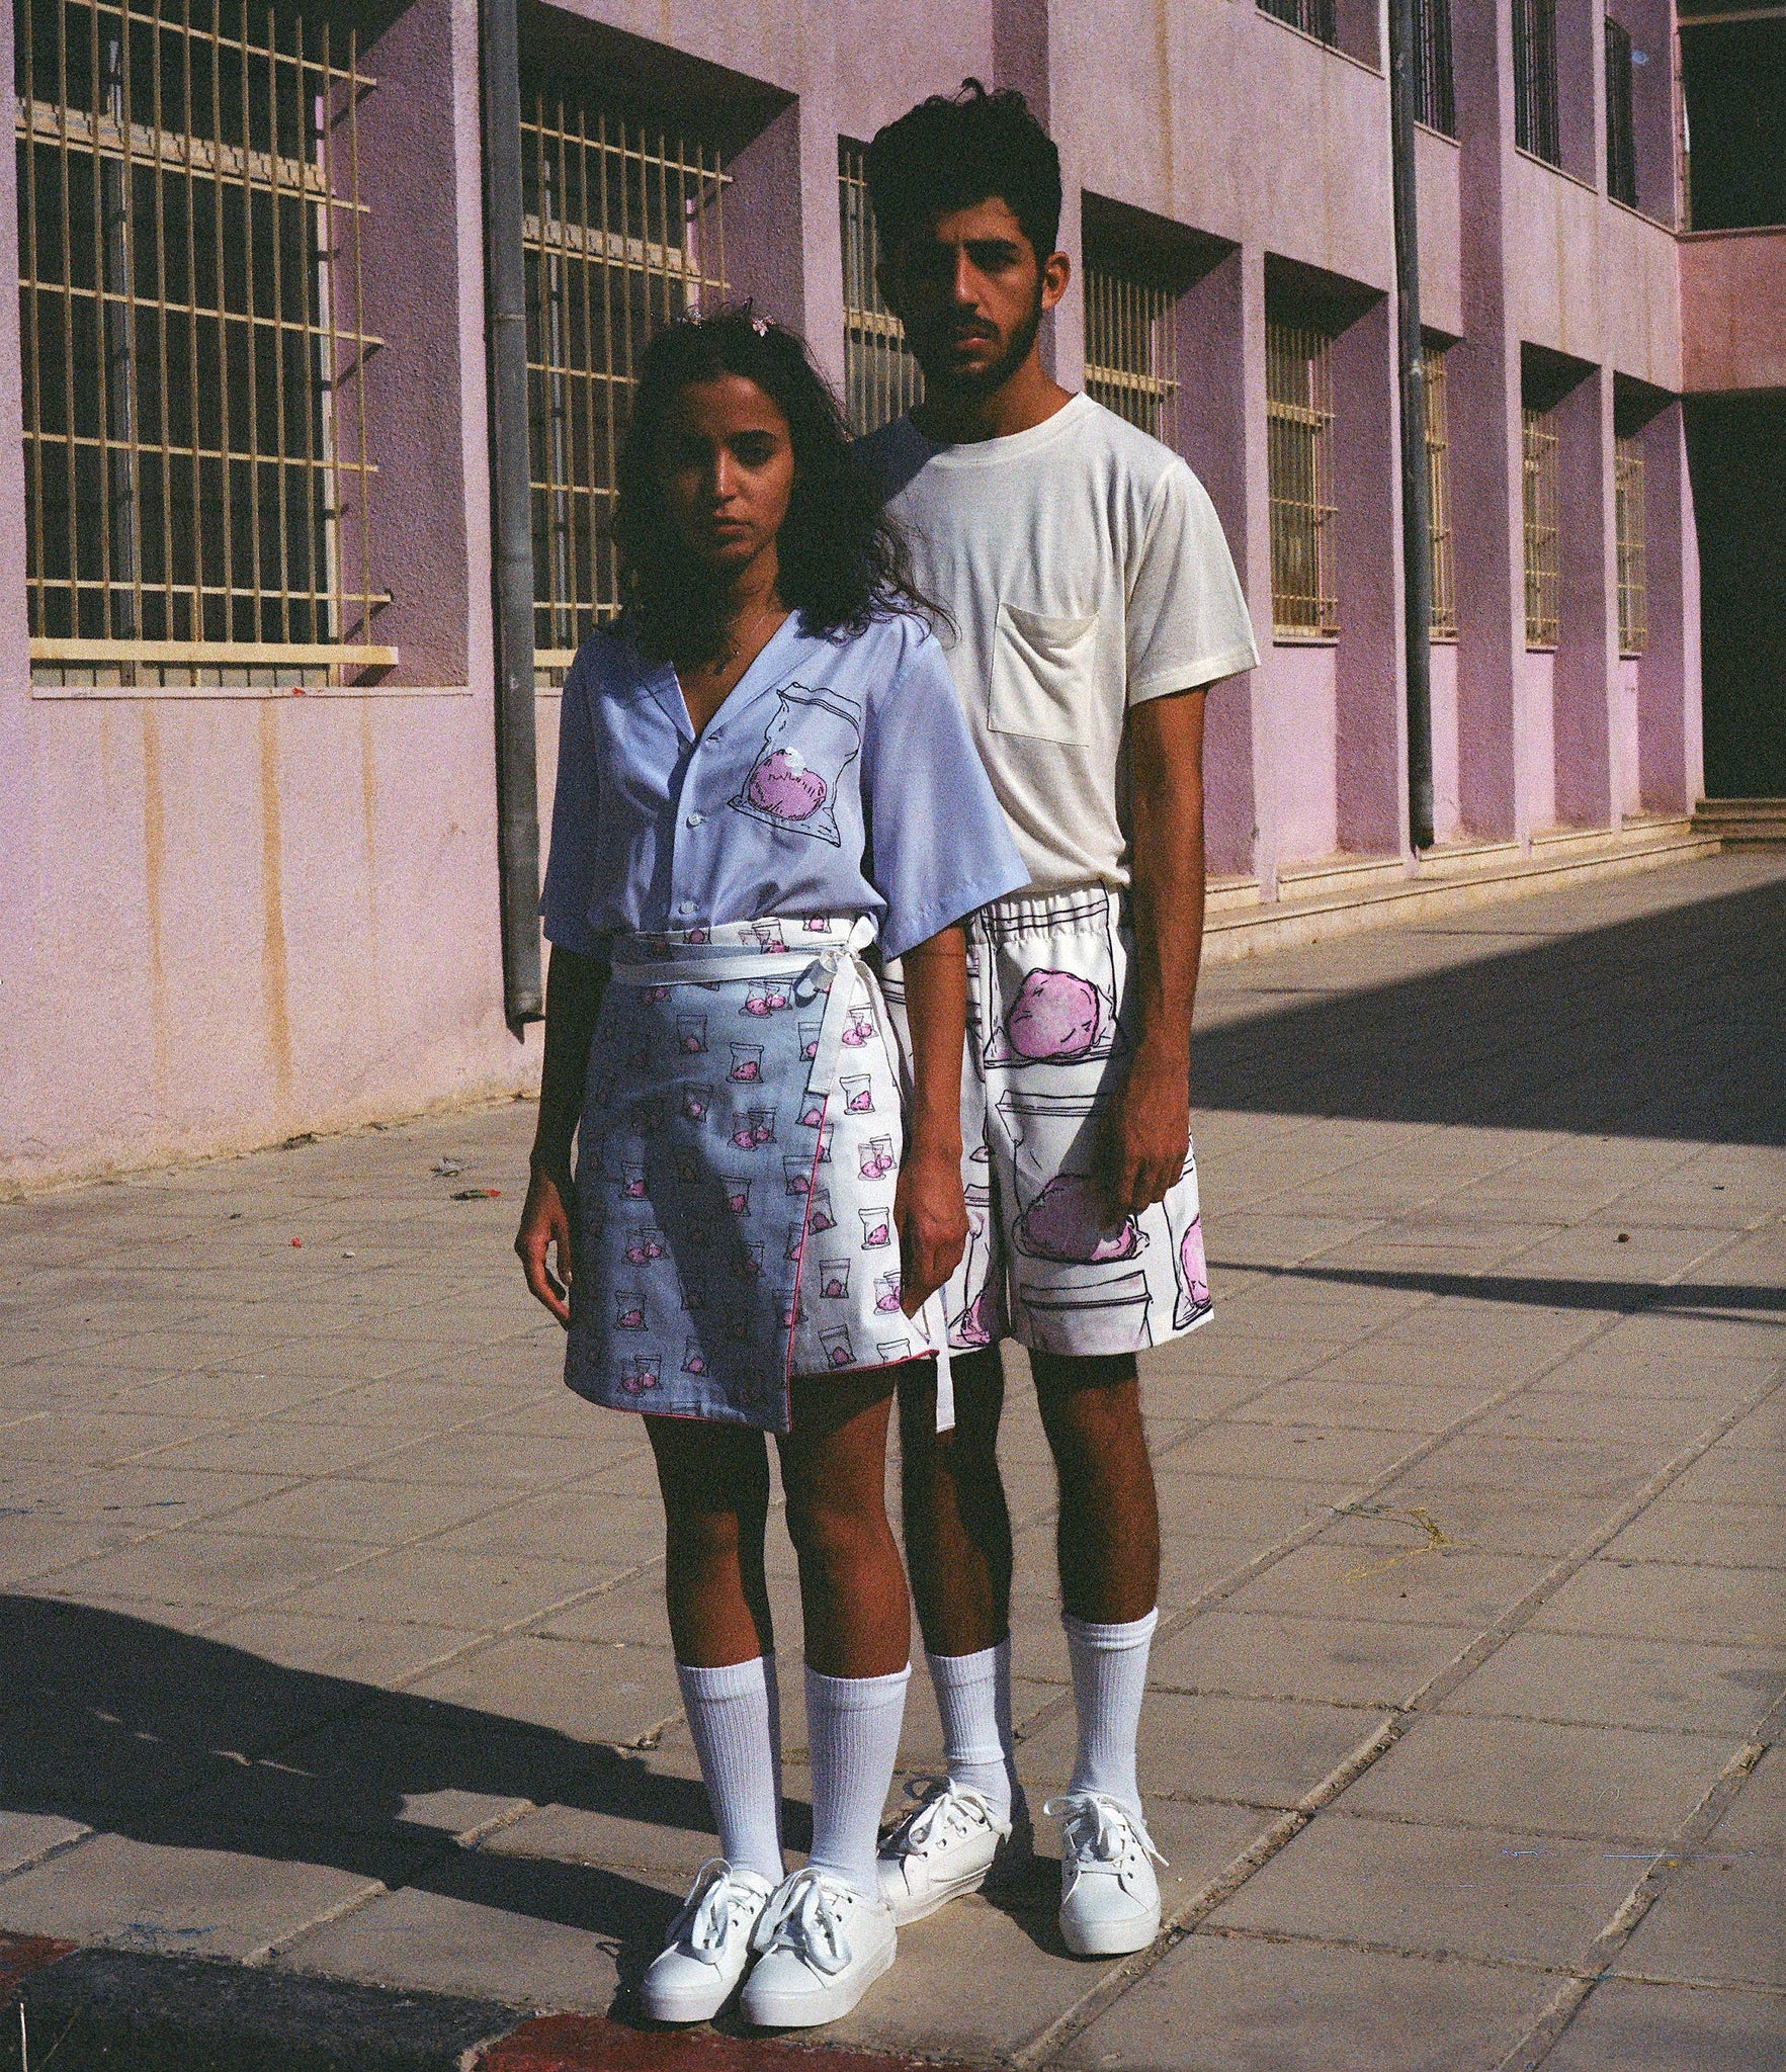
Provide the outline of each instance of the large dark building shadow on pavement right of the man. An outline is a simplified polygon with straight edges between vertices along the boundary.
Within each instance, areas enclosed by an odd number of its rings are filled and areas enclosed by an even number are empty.
[[[1409,937],[1521,932],[1500,918]],[[1363,990],[1212,978],[1220,1005],[1316,997],[1200,1028],[1204,1109],[1786,1144],[1786,879]]]

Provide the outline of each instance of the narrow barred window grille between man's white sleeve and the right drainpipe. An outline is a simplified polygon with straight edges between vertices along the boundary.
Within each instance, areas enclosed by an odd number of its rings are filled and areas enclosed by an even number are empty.
[[[1266,323],[1266,460],[1272,518],[1272,624],[1336,634],[1332,342]]]

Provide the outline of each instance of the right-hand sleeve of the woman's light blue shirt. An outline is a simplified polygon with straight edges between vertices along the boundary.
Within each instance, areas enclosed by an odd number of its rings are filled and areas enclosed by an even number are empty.
[[[862,806],[868,879],[887,901],[881,947],[889,957],[1030,883],[928,632],[914,628],[872,707]]]

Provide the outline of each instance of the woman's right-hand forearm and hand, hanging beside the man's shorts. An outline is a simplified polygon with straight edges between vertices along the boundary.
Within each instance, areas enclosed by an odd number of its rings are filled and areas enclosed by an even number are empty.
[[[961,1264],[961,1042],[968,1028],[968,932],[951,926],[908,949],[905,1019],[912,1028],[912,1125],[893,1222],[899,1231],[899,1307],[918,1310]]]

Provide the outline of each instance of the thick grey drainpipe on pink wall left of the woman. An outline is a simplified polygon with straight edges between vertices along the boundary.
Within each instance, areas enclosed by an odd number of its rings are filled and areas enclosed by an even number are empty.
[[[495,796],[501,997],[520,1036],[545,1013],[539,974],[539,762],[532,692],[532,522],[526,454],[526,257],[516,0],[481,0],[485,338],[495,547]]]

